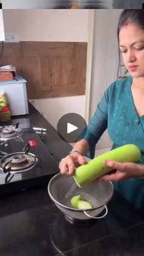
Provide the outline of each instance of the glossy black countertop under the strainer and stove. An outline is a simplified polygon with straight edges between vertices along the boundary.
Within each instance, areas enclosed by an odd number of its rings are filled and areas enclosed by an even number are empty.
[[[31,125],[48,128],[45,144],[59,163],[71,146],[31,106]],[[47,185],[0,197],[0,255],[139,256],[144,251],[144,213],[114,192],[105,218],[70,223],[50,199]]]

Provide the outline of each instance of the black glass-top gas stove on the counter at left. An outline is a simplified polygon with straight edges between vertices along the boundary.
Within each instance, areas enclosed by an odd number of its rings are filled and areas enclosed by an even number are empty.
[[[0,195],[48,184],[59,172],[41,136],[24,122],[0,126]]]

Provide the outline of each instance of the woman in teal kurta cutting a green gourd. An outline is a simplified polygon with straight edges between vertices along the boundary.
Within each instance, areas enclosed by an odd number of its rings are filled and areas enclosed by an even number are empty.
[[[104,92],[88,124],[87,133],[76,142],[70,155],[59,164],[63,175],[73,175],[76,164],[85,164],[84,154],[95,145],[107,129],[112,148],[135,144],[142,152],[140,163],[104,164],[117,170],[96,181],[113,181],[115,189],[135,207],[144,209],[144,10],[123,10],[117,28],[118,43],[125,67],[131,76],[113,82]]]

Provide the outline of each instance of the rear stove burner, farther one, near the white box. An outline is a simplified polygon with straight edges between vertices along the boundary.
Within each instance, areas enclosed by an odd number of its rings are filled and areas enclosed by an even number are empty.
[[[0,141],[15,139],[23,134],[23,131],[18,128],[19,123],[15,125],[0,126]]]

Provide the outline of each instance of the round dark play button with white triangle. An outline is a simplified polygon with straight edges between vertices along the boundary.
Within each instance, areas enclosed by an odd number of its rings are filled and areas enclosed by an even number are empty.
[[[57,123],[57,132],[63,141],[74,143],[85,136],[87,123],[81,115],[68,113],[63,115]]]

